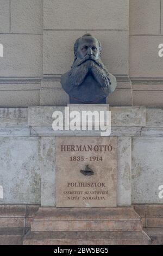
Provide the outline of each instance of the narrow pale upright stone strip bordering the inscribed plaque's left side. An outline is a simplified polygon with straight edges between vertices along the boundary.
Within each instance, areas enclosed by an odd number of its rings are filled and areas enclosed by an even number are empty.
[[[41,205],[55,205],[55,138],[41,138]]]

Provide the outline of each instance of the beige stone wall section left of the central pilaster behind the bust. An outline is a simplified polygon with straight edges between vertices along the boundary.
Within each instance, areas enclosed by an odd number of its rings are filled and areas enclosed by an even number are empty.
[[[0,1],[0,107],[40,105],[43,1]]]

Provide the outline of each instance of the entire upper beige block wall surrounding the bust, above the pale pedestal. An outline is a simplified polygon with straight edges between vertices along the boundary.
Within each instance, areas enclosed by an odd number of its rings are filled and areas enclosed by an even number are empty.
[[[112,106],[162,107],[162,0],[1,0],[0,107],[65,106],[60,76],[92,33],[118,86]]]

